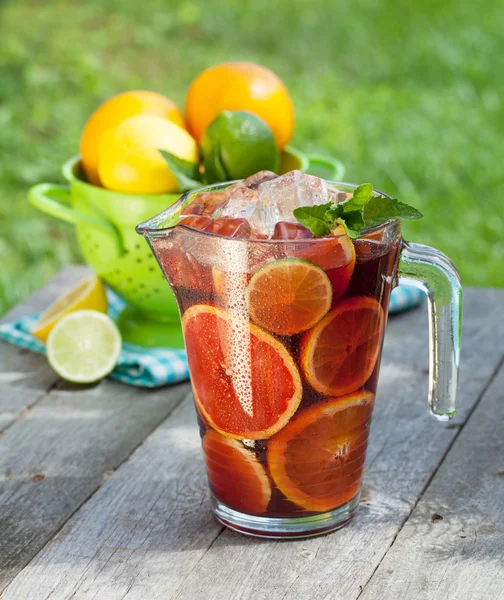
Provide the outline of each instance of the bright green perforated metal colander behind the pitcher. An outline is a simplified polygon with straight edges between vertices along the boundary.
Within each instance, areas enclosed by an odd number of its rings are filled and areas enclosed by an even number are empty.
[[[119,318],[125,341],[142,346],[182,348],[175,298],[135,225],[162,212],[179,194],[121,194],[85,182],[80,157],[63,166],[69,185],[31,188],[31,204],[73,223],[84,260],[128,306]]]

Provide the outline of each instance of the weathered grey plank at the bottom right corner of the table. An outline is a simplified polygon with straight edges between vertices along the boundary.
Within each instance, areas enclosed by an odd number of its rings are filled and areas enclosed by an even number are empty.
[[[362,600],[504,598],[504,367]]]

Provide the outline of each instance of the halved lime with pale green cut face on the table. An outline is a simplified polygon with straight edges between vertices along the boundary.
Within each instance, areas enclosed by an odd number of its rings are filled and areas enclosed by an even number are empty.
[[[108,375],[121,352],[121,335],[110,317],[96,310],[65,315],[47,338],[47,359],[73,383],[92,383]]]

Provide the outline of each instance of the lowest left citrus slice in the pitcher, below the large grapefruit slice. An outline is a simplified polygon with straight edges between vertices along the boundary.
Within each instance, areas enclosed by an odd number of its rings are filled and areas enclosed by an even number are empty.
[[[206,432],[202,444],[215,497],[235,510],[263,513],[271,498],[271,484],[255,454],[238,440],[212,429]]]

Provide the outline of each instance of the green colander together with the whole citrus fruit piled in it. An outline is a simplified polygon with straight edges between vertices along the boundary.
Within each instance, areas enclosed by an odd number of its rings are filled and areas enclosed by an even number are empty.
[[[76,226],[85,262],[128,305],[119,319],[123,339],[141,345],[182,347],[183,340],[173,293],[135,225],[205,183],[311,165],[287,145],[292,101],[265,67],[207,69],[191,84],[185,111],[147,90],[110,98],[84,125],[81,156],[63,168],[69,185],[39,184],[29,193],[37,208]],[[244,229],[243,219],[226,226]],[[180,271],[181,281],[199,281],[189,271]]]

